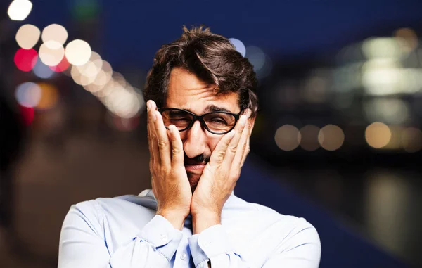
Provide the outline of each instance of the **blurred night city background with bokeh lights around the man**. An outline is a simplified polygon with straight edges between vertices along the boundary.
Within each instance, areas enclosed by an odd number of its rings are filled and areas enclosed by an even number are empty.
[[[314,224],[320,267],[422,267],[421,11],[417,0],[2,0],[0,266],[57,267],[70,205],[151,188],[146,72],[183,25],[204,24],[260,79],[236,195]]]

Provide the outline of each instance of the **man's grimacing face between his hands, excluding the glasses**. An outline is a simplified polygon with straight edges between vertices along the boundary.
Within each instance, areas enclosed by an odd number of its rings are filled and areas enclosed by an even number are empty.
[[[217,94],[215,85],[206,84],[196,75],[182,68],[174,68],[170,74],[166,108],[179,108],[203,115],[221,108],[231,113],[239,113],[238,94],[229,92]],[[212,109],[212,110],[211,110]],[[184,148],[184,164],[192,191],[196,189],[205,164],[212,151],[224,135],[212,134],[196,121],[191,129],[180,132]]]

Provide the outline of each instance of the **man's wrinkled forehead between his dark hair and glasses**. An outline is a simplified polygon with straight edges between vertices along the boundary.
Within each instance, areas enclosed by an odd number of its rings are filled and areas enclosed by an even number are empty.
[[[203,82],[187,70],[174,68],[170,73],[165,106],[190,110],[197,114],[206,113],[212,106],[231,113],[239,113],[238,94],[234,92],[218,94],[215,87],[214,84]]]

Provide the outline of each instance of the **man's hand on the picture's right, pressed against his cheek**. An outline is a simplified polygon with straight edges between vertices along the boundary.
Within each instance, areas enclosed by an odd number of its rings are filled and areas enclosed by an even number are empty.
[[[250,110],[241,115],[236,127],[222,137],[205,165],[191,201],[194,234],[221,223],[224,203],[236,186],[249,153],[253,125],[249,116]]]

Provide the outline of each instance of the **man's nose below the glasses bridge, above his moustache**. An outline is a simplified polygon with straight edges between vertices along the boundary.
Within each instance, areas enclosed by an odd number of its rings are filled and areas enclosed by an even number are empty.
[[[186,130],[183,148],[188,158],[195,158],[205,152],[206,134],[199,121],[193,123],[191,129]]]

